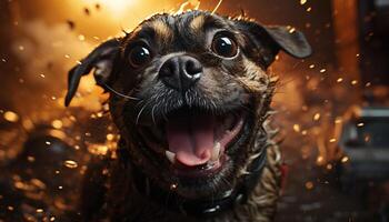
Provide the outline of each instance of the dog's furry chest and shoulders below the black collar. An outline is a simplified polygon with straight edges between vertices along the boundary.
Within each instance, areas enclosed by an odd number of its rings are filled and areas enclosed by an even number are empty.
[[[257,137],[256,140],[261,139]],[[263,142],[261,142],[263,144]],[[280,150],[270,139],[267,140],[267,162],[262,169],[258,183],[245,204],[238,204],[212,218],[196,219],[178,212],[166,210],[139,193],[133,184],[131,165],[126,165],[120,159],[114,160],[108,178],[107,200],[104,211],[109,221],[209,221],[209,222],[241,222],[272,221],[280,191]]]

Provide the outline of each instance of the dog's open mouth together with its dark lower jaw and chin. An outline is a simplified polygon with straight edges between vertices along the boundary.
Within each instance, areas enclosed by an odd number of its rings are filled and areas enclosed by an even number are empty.
[[[238,153],[247,152],[241,149],[251,135],[251,115],[246,107],[210,111],[183,105],[169,111],[160,120],[138,125],[137,149],[144,151],[141,162],[163,174],[158,183],[174,184],[186,196],[229,191],[237,178]],[[160,178],[152,174],[148,176]]]

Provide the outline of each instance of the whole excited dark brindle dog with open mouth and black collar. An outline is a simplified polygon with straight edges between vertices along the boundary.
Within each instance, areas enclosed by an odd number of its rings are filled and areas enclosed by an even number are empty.
[[[281,155],[269,125],[279,51],[311,54],[288,27],[207,11],[161,13],[69,72],[66,105],[94,70],[110,93],[116,158],[89,167],[84,221],[272,221]]]

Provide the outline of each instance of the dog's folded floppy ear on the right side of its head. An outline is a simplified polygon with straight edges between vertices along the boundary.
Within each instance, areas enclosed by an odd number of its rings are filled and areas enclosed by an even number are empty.
[[[262,56],[265,67],[270,65],[280,50],[303,59],[312,53],[312,49],[302,32],[288,27],[266,27],[253,21],[239,20],[238,27],[253,42]]]

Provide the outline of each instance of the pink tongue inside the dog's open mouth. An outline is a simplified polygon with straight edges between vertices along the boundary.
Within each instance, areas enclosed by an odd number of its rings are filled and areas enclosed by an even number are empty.
[[[183,115],[169,119],[167,134],[169,151],[176,160],[189,167],[205,164],[210,160],[213,149],[213,124],[211,115]]]

